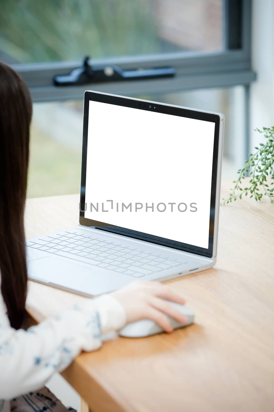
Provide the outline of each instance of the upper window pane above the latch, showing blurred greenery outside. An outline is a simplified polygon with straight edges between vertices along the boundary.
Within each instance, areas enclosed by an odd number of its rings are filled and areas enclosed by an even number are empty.
[[[0,60],[222,48],[222,0],[1,0]]]

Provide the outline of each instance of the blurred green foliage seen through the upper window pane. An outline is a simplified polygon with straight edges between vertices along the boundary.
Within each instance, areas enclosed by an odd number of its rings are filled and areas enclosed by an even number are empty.
[[[160,51],[152,0],[1,0],[0,53],[14,62]]]

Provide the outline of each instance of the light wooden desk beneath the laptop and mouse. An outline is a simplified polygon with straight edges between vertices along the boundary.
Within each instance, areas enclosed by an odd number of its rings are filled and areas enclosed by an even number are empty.
[[[224,185],[228,194],[230,184]],[[78,195],[29,199],[27,238],[78,225]],[[93,411],[274,411],[274,204],[221,207],[214,269],[170,281],[196,313],[171,335],[108,341],[63,376]],[[30,282],[36,321],[84,299]]]

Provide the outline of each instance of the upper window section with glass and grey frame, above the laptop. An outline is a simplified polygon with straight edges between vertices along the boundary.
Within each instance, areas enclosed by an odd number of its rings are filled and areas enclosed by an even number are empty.
[[[34,101],[81,99],[86,89],[122,95],[250,84],[250,0],[2,0],[0,58]],[[172,66],[174,78],[56,87],[81,66]]]

